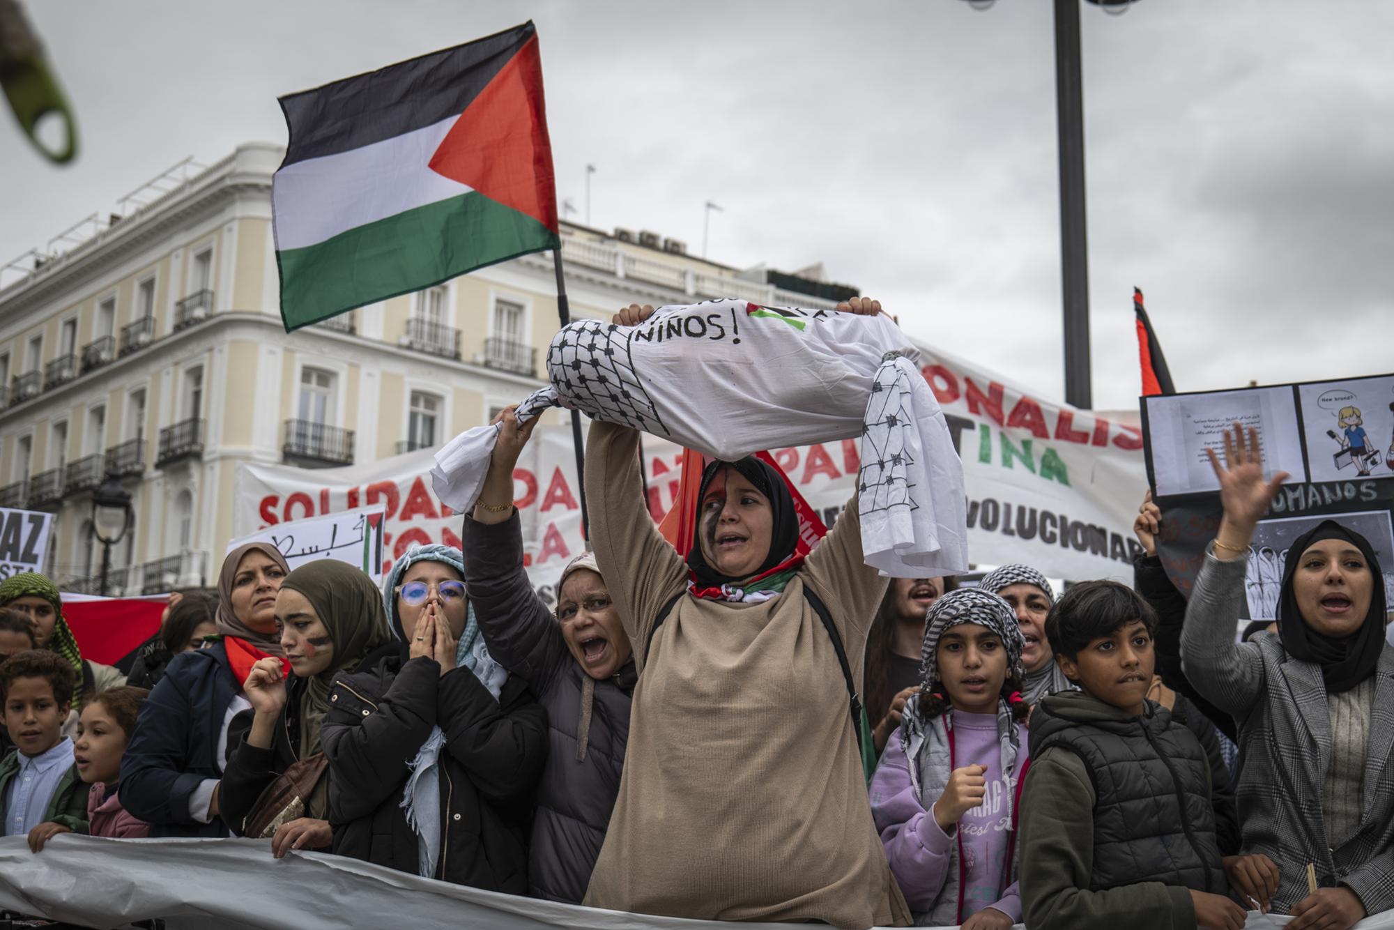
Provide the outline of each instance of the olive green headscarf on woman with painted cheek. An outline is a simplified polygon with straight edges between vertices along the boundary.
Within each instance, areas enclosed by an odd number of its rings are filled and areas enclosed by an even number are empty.
[[[357,666],[390,641],[392,633],[378,586],[344,562],[321,559],[302,565],[286,576],[280,590],[304,594],[335,644],[329,668],[305,680],[305,694],[300,699],[300,757],[305,759],[319,752],[319,725],[329,712],[335,673]]]

